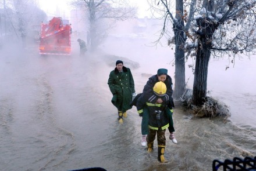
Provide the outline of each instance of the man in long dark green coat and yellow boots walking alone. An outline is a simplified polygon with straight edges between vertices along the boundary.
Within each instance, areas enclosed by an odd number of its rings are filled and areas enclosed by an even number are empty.
[[[123,66],[123,61],[116,61],[115,70],[111,71],[108,79],[108,86],[113,94],[111,102],[118,108],[119,123],[123,123],[123,117],[127,117],[131,99],[135,93],[133,75],[130,68]]]

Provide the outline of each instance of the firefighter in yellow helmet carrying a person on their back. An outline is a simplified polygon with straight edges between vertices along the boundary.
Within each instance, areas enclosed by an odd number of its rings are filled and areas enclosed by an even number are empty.
[[[155,83],[153,87],[154,93],[157,97],[167,96],[166,94],[166,85],[162,81]],[[169,120],[171,119],[170,124],[173,125],[172,118],[170,117],[171,111],[168,107],[168,101],[162,103],[151,103],[147,101],[143,107],[144,100],[139,98],[137,100],[137,110],[140,115],[148,115],[148,136],[147,136],[147,151],[151,152],[154,147],[155,136],[157,135],[158,141],[158,160],[160,162],[165,162],[165,130],[169,127]]]

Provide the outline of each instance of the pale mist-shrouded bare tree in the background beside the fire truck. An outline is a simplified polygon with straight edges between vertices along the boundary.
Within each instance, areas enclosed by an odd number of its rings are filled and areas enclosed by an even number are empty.
[[[137,8],[133,8],[125,0],[75,0],[73,6],[86,10],[90,21],[91,49],[97,48],[106,36],[111,20],[127,20],[136,17]],[[111,25],[111,24],[110,24]],[[108,26],[108,27],[106,27]],[[103,31],[105,30],[105,31]]]

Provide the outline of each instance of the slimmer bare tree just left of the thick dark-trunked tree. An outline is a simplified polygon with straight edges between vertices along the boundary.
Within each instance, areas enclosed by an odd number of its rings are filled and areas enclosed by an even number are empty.
[[[187,32],[189,32],[191,20],[193,18],[193,10],[195,7],[195,0],[190,3],[184,3],[183,1],[176,1],[176,10],[173,12],[172,1],[160,0],[152,1],[148,0],[151,5],[151,11],[155,17],[163,20],[163,28],[161,31],[160,39],[163,36],[169,37],[168,45],[175,44],[175,91],[174,97],[181,97],[186,89],[185,83],[185,42],[187,40]],[[183,6],[188,6],[192,12],[187,13]],[[157,12],[157,13],[155,13]],[[175,17],[173,17],[175,15]],[[158,17],[161,16],[161,17]],[[184,25],[186,23],[186,26]],[[172,30],[169,31],[169,27],[172,26]],[[174,36],[172,34],[174,32]],[[157,41],[158,42],[158,41]]]

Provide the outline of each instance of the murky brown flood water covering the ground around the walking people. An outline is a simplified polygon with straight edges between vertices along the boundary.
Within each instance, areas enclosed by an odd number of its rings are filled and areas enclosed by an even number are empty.
[[[173,144],[166,132],[166,163],[157,161],[157,150],[148,154],[141,147],[136,108],[119,124],[107,84],[116,60],[122,57],[131,68],[137,93],[158,68],[168,68],[174,78],[173,50],[150,48],[147,42],[112,38],[101,52],[85,57],[79,56],[76,42],[71,56],[42,57],[36,45],[2,50],[0,170],[212,170],[214,159],[254,157],[255,59],[237,61],[227,71],[225,60],[210,61],[208,89],[230,106],[232,116],[227,122],[198,119],[175,108],[178,143]],[[193,74],[186,72],[191,86]]]

